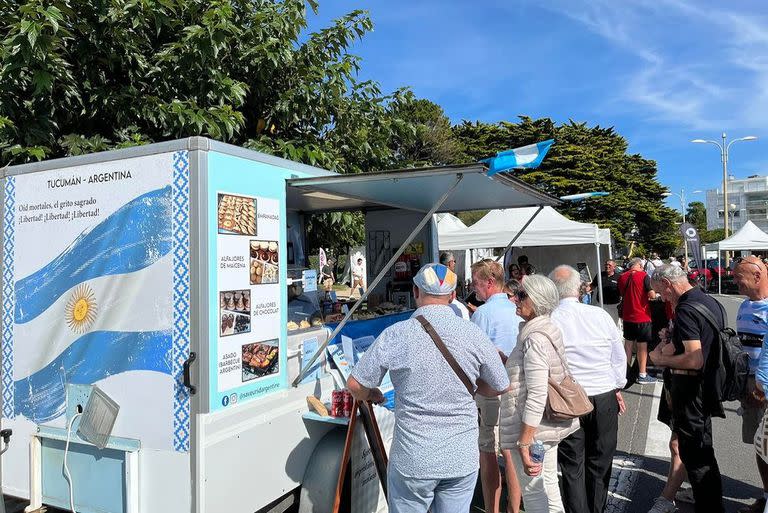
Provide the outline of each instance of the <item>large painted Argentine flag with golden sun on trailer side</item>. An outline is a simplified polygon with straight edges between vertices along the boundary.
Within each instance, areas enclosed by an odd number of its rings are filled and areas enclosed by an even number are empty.
[[[136,197],[16,282],[16,415],[59,417],[67,383],[172,374],[171,208],[171,186]]]

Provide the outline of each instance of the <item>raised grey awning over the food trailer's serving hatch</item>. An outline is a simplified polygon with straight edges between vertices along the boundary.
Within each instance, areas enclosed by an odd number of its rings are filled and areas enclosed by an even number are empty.
[[[484,164],[401,169],[288,180],[288,207],[302,212],[402,208],[429,212],[461,181],[438,212],[559,205],[560,200],[514,178],[492,177]]]

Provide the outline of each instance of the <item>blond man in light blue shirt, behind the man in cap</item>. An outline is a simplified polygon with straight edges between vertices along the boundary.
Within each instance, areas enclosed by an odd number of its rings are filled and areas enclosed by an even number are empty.
[[[517,345],[520,323],[517,307],[504,292],[504,268],[491,259],[472,264],[472,288],[485,304],[472,314],[472,322],[482,329],[499,352],[499,358],[506,363],[507,357]],[[499,407],[498,396],[475,396],[480,412],[480,481],[483,486],[485,511],[498,513],[501,498],[501,474],[499,473],[498,451]],[[510,504],[520,504],[520,487],[517,482],[508,483]]]

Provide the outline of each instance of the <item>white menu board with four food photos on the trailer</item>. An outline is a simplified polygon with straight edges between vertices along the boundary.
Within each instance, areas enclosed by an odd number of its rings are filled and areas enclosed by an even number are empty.
[[[280,224],[275,199],[217,194],[217,391],[280,372]],[[229,402],[237,393],[225,395]]]

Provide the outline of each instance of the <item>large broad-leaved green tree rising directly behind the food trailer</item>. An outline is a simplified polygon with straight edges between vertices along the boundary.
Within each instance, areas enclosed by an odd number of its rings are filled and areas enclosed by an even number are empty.
[[[191,135],[342,173],[394,166],[393,139],[417,132],[449,151],[432,135],[445,132],[439,107],[357,78],[348,48],[368,14],[305,34],[307,5],[317,0],[0,3],[0,167]],[[309,225],[313,244],[361,241],[359,215]]]

